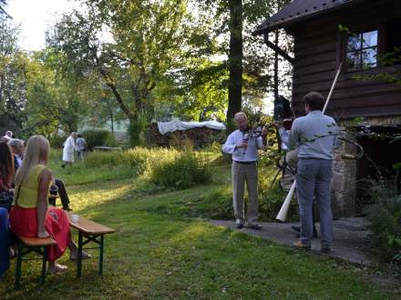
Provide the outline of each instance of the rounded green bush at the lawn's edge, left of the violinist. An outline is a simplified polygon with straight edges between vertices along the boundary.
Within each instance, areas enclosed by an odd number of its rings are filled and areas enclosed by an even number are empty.
[[[150,180],[157,185],[188,188],[211,180],[211,169],[193,152],[183,152],[174,159],[159,161],[151,169]]]

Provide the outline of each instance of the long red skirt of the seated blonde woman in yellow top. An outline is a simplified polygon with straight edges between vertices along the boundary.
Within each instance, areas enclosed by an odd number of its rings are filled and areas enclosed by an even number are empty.
[[[11,230],[16,235],[36,237],[36,208],[13,206],[10,212],[10,226]],[[56,207],[48,207],[46,212],[45,229],[57,242],[57,245],[49,247],[48,252],[48,260],[54,262],[58,257],[66,252],[68,242],[71,239],[66,213]]]

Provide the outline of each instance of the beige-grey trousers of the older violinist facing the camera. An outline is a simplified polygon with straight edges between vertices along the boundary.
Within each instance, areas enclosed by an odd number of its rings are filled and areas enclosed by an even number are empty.
[[[245,182],[248,189],[248,211],[246,223],[248,226],[258,221],[258,168],[256,164],[243,165],[235,161],[231,165],[232,204],[234,207],[235,223],[245,224],[243,195]]]

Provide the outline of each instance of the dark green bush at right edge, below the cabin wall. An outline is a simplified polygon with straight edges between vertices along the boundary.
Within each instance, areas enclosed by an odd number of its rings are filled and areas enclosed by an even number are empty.
[[[394,182],[369,180],[373,205],[365,208],[369,241],[382,261],[401,264],[401,195]]]

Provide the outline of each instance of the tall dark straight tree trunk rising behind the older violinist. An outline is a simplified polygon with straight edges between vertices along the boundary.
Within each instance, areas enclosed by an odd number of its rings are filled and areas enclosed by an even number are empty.
[[[229,107],[227,122],[242,106],[242,0],[230,0]]]

